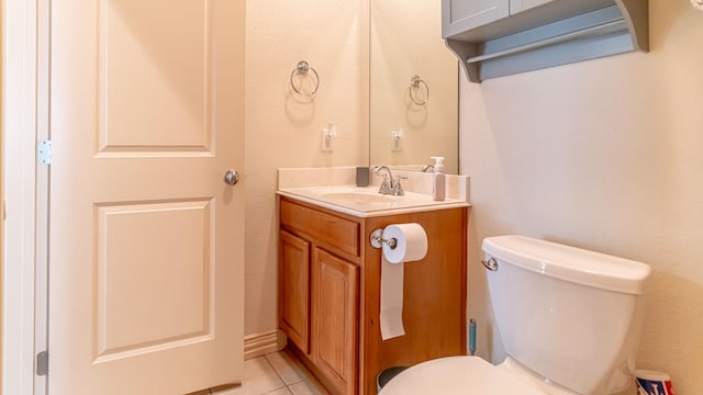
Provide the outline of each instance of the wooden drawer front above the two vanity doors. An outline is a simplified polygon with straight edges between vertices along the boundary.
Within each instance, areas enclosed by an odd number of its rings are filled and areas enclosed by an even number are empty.
[[[359,256],[359,224],[281,200],[281,225]]]

